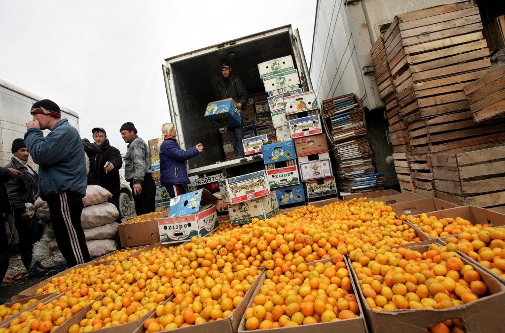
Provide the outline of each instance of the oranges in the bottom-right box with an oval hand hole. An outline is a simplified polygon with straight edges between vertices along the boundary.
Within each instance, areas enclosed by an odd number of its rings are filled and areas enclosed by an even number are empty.
[[[359,253],[351,252],[349,258],[374,310],[444,309],[487,293],[479,272],[446,246],[431,244],[425,252],[398,248]]]

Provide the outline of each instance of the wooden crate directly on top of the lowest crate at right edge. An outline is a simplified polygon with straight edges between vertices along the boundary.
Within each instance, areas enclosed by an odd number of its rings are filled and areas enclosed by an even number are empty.
[[[413,154],[438,153],[505,140],[505,122],[476,123],[470,110],[409,124]]]

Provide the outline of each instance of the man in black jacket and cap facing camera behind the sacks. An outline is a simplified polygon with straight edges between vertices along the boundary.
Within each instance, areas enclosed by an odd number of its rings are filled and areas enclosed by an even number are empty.
[[[119,191],[121,183],[119,181],[119,169],[123,165],[123,159],[119,149],[111,146],[107,133],[103,128],[95,127],[91,130],[94,143],[100,148],[98,152],[87,150],[89,158],[88,185],[100,185],[112,193],[112,198],[107,200],[113,203],[119,210]],[[107,166],[106,166],[107,164]],[[121,223],[121,213],[116,219]]]

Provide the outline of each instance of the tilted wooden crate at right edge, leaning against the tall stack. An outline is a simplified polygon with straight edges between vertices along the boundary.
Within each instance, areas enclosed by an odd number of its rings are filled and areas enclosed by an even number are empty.
[[[505,66],[464,87],[476,122],[505,117]]]

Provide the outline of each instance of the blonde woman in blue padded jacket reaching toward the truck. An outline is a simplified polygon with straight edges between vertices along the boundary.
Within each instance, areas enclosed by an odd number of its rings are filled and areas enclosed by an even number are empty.
[[[175,124],[165,123],[161,127],[162,136],[158,139],[160,151],[161,184],[165,185],[171,198],[186,193],[183,184],[189,184],[186,170],[186,161],[198,155],[204,146],[198,143],[196,146],[184,151],[175,138],[177,130]]]

